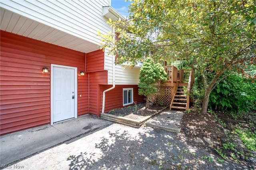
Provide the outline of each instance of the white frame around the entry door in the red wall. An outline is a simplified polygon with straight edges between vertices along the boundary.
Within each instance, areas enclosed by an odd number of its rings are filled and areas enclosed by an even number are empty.
[[[71,66],[63,66],[57,64],[51,64],[51,125],[53,125],[53,67],[60,67],[60,68],[71,68],[74,69],[74,95],[75,95],[75,103],[74,103],[74,118],[77,118],[77,67]]]

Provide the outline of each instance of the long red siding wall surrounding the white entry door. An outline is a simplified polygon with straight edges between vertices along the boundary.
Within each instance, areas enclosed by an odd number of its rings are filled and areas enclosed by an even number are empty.
[[[85,54],[5,31],[1,35],[0,134],[50,123],[51,64],[85,70]],[[88,74],[78,74],[78,115],[88,113]]]

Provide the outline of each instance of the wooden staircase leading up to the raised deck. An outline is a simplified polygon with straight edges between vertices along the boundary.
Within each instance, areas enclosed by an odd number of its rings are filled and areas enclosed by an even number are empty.
[[[172,102],[170,104],[170,110],[172,109],[189,109],[190,89],[192,85],[192,71],[189,74],[188,83],[178,83],[174,90]]]

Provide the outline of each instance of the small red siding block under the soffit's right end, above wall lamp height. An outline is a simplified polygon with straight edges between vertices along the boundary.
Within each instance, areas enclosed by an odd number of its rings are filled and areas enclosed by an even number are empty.
[[[93,51],[86,54],[86,72],[104,71],[104,52]]]

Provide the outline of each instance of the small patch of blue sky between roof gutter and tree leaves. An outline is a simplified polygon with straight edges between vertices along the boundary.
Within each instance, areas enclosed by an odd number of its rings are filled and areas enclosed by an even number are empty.
[[[128,6],[132,3],[130,0],[125,2],[125,0],[111,0],[111,6],[117,10],[124,18],[129,15]]]

